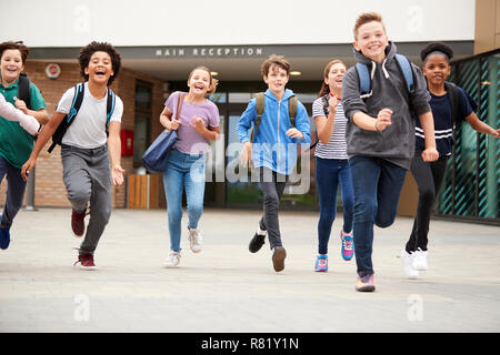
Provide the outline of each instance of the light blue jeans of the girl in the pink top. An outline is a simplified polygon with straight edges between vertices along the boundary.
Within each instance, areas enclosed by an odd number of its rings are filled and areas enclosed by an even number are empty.
[[[204,154],[184,154],[176,149],[169,153],[163,172],[164,195],[167,197],[167,215],[169,221],[170,250],[180,252],[182,192],[186,190],[188,203],[188,226],[198,227],[203,213],[204,195]]]

